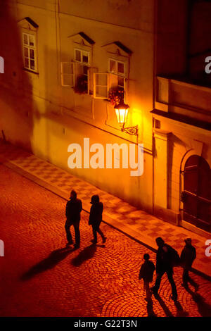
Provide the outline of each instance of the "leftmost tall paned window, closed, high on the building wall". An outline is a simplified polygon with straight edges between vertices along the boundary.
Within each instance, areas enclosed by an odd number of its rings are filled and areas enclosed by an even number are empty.
[[[36,35],[23,32],[23,63],[24,68],[37,71]]]

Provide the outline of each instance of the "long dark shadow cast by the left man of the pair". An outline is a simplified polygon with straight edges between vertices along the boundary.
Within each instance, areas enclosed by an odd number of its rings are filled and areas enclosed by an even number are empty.
[[[62,249],[56,249],[55,251],[52,251],[51,254],[45,258],[44,260],[40,261],[39,263],[35,264],[28,270],[26,273],[24,273],[20,280],[30,280],[32,277],[37,275],[38,273],[43,273],[46,270],[52,269],[54,266],[56,266],[60,261],[62,261],[64,258],[66,258],[72,251],[75,251],[75,249],[72,249],[70,247],[64,247]]]

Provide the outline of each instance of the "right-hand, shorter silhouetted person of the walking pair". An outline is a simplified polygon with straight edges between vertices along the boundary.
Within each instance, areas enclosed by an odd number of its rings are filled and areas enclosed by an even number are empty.
[[[98,195],[91,196],[91,208],[89,215],[89,225],[92,226],[92,231],[94,235],[94,239],[91,240],[94,244],[97,243],[97,232],[101,235],[103,239],[103,243],[106,242],[106,237],[103,235],[103,232],[100,229],[100,225],[102,222],[102,214],[103,214],[103,203],[100,202],[100,198]]]

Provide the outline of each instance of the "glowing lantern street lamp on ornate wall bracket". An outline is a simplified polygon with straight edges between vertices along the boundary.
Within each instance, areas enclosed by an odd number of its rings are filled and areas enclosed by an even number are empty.
[[[129,135],[138,135],[138,125],[135,125],[133,127],[124,127],[124,124],[127,120],[128,110],[129,106],[127,104],[124,104],[124,102],[121,102],[120,104],[115,105],[115,113],[117,115],[117,122],[120,123],[122,126],[121,130],[122,132],[129,133]]]

